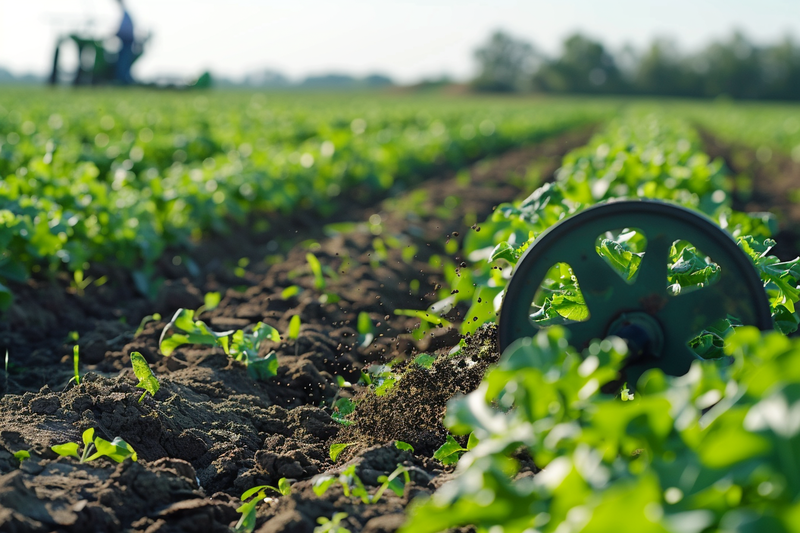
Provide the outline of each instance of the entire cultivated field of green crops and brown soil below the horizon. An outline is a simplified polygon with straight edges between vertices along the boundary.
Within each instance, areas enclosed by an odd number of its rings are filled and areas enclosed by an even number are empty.
[[[800,107],[0,90],[0,531],[800,531]]]

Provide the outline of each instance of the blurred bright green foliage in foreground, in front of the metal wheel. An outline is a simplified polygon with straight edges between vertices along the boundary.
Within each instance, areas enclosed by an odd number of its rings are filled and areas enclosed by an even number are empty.
[[[743,516],[752,531],[794,530],[800,341],[739,328],[725,348],[732,365],[696,361],[680,378],[651,370],[622,401],[601,389],[624,343],[581,357],[563,335],[518,341],[475,392],[450,402],[445,424],[480,443],[403,531],[599,532],[621,516],[632,531],[721,531]],[[514,453],[543,471],[515,479]]]

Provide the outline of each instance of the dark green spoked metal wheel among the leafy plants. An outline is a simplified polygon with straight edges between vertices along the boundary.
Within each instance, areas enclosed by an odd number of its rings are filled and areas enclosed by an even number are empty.
[[[647,247],[635,282],[627,283],[597,253],[599,235],[622,228],[644,233]],[[708,286],[671,295],[667,290],[669,251],[691,242],[720,267]],[[592,339],[617,335],[628,342],[624,374],[635,384],[648,369],[685,374],[697,356],[688,342],[728,315],[745,325],[772,328],[769,301],[750,259],[711,219],[653,200],[626,200],[590,207],[542,233],[517,263],[503,300],[498,327],[500,349],[541,326],[531,305],[549,269],[567,263],[589,309],[583,322],[568,322],[570,344],[585,348]]]

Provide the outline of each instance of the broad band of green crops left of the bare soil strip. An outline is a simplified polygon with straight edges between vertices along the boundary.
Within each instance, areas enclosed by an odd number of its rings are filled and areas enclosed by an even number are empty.
[[[297,104],[249,94],[5,96],[0,282],[96,261],[147,274],[167,247],[229,231],[251,213],[329,214],[354,191],[393,190],[611,110],[345,97]]]

